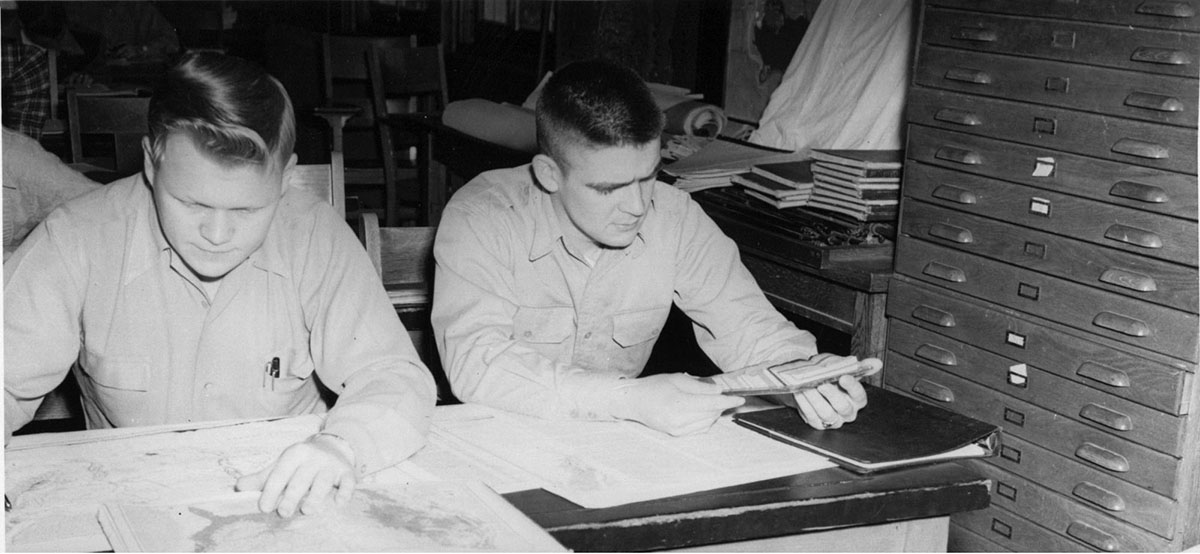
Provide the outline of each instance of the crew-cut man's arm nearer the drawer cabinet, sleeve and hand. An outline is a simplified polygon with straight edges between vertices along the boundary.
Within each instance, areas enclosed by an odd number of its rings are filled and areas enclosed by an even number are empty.
[[[698,204],[680,203],[677,302],[692,319],[700,347],[722,371],[780,363],[817,354],[812,333],[796,327],[767,300],[738,254]],[[854,421],[866,391],[851,377],[776,401],[797,408],[817,429]]]

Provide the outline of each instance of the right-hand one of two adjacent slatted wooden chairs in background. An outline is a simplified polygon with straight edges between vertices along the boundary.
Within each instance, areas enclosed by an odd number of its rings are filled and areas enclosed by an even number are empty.
[[[379,150],[384,161],[388,213],[400,213],[401,183],[415,189],[418,224],[437,221],[431,209],[428,176],[418,161],[427,147],[427,130],[418,121],[438,114],[448,103],[445,58],[442,44],[395,47],[373,44],[367,53],[372,109],[379,126]],[[388,218],[395,225],[395,218]]]

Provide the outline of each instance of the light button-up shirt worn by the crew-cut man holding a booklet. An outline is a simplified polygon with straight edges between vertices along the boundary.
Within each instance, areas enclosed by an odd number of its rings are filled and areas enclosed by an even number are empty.
[[[546,417],[608,418],[594,393],[646,366],[672,302],[722,371],[816,354],[737,246],[658,182],[641,231],[594,265],[568,248],[529,165],[485,173],[438,227],[432,323],[455,396]]]

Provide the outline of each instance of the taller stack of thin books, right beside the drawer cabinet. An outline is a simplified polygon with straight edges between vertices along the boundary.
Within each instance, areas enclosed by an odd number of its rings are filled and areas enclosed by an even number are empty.
[[[809,209],[857,221],[894,221],[900,206],[900,150],[814,150]]]

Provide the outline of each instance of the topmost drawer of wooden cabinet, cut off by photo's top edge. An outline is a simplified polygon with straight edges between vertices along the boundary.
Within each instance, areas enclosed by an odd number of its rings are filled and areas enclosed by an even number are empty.
[[[1194,0],[1075,0],[1048,2],[1045,0],[930,0],[930,5],[959,7],[977,12],[1038,16],[1080,22],[1116,23],[1151,29],[1200,31]]]

